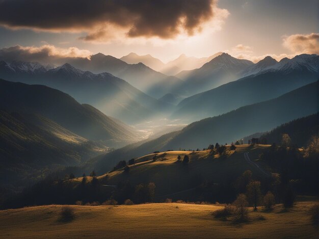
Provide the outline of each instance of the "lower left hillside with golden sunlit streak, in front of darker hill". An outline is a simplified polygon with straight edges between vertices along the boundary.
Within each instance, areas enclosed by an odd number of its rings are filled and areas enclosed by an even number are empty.
[[[106,150],[41,115],[0,110],[0,184],[28,185]]]

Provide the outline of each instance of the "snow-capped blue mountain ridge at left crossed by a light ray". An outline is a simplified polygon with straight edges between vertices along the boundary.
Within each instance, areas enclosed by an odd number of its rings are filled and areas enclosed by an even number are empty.
[[[29,63],[2,63],[0,76],[10,81],[41,84],[59,89],[79,102],[90,103],[103,113],[126,123],[144,121],[171,107],[170,104],[146,95],[109,73],[93,74],[76,69],[70,64],[50,70],[45,70],[37,64],[37,68],[41,70],[31,71]],[[17,65],[24,67],[17,70]]]

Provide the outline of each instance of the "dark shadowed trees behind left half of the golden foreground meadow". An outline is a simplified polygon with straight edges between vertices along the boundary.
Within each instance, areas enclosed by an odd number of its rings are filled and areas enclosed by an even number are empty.
[[[102,180],[102,181],[101,181]],[[94,171],[90,176],[83,175],[81,183],[74,184],[59,177],[47,177],[33,187],[5,200],[0,208],[16,208],[28,205],[74,204],[99,205],[116,202],[145,203],[154,200],[156,186],[153,182],[131,185],[120,182],[116,187],[103,187],[108,178],[99,180]],[[111,205],[111,204],[110,204]]]

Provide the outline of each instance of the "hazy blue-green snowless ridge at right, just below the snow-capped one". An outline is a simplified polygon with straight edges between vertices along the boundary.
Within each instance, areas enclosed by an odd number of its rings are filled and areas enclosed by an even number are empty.
[[[165,148],[202,148],[209,143],[230,143],[254,132],[270,130],[285,122],[317,113],[318,95],[318,82],[315,82],[272,100],[194,122],[183,128]]]

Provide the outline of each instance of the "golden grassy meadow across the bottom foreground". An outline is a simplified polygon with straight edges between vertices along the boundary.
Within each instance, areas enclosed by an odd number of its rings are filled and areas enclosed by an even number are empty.
[[[71,206],[75,219],[61,222],[61,205],[0,211],[1,238],[317,238],[309,208],[298,202],[288,211],[277,205],[250,213],[251,222],[233,224],[211,216],[215,205],[156,203]],[[262,215],[265,220],[257,220]]]

